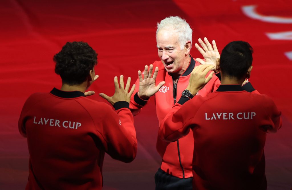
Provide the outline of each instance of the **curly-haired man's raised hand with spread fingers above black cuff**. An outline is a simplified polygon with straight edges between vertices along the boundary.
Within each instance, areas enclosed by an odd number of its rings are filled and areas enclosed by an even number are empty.
[[[114,87],[115,87],[114,95],[107,96],[106,94],[103,94],[103,93],[100,93],[99,95],[102,98],[105,98],[112,105],[114,105],[114,103],[116,103],[118,101],[126,101],[126,102],[130,103],[131,95],[133,94],[134,89],[135,89],[135,85],[133,85],[130,92],[129,92],[130,83],[131,83],[131,78],[129,77],[127,80],[127,83],[126,83],[126,87],[124,87],[124,76],[121,75],[120,76],[120,85],[119,85],[118,77],[115,76],[114,77]]]

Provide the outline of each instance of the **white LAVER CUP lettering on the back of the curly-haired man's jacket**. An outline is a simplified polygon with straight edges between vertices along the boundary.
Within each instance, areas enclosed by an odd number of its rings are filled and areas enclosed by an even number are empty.
[[[60,121],[58,119],[49,119],[49,118],[36,118],[34,116],[34,124],[38,125],[47,125],[47,126],[58,126],[58,127],[64,127],[69,129],[78,129],[78,127],[81,126],[81,123],[79,122],[73,122],[73,121]]]

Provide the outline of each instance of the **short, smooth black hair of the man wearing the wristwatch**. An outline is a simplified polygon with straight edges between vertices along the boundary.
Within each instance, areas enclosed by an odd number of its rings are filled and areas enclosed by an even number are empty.
[[[227,44],[221,53],[220,70],[229,77],[244,77],[251,66],[253,49],[244,41],[233,41]]]

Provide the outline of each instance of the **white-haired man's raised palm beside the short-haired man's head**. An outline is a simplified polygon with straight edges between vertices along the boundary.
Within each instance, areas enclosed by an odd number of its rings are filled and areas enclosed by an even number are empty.
[[[203,49],[197,43],[195,43],[195,47],[203,55],[205,61],[200,58],[197,58],[196,61],[198,61],[200,64],[212,64],[214,66],[212,70],[215,71],[216,61],[218,58],[220,58],[220,54],[218,52],[215,40],[212,41],[213,47],[206,37],[204,38],[206,44],[201,40],[201,38],[199,38],[198,41]]]

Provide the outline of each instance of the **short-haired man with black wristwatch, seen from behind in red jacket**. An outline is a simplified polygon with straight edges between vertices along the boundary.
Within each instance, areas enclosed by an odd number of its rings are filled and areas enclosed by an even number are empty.
[[[170,142],[192,129],[194,189],[267,189],[263,148],[266,133],[281,127],[281,112],[266,95],[241,87],[252,70],[252,52],[247,42],[226,45],[216,64],[218,89],[205,97],[182,97],[161,122],[159,135]],[[192,72],[187,89],[193,95],[209,80],[211,67]]]

